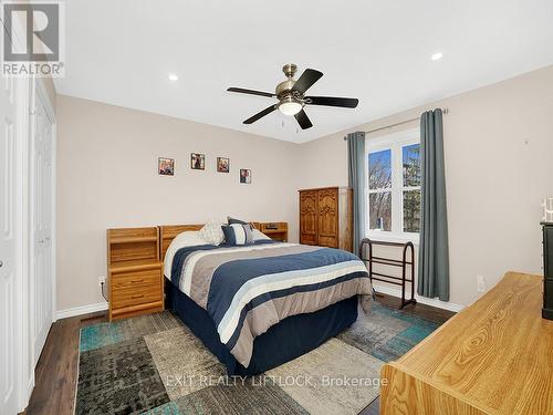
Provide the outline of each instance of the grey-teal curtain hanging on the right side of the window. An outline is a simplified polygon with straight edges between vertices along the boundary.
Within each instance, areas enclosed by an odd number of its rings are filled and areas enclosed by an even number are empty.
[[[449,247],[441,110],[420,117],[421,211],[418,261],[420,295],[449,301]]]

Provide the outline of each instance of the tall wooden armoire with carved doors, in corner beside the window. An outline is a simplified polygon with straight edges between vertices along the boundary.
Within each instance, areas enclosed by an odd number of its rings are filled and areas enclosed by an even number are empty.
[[[300,190],[300,243],[353,249],[353,191],[347,187]]]

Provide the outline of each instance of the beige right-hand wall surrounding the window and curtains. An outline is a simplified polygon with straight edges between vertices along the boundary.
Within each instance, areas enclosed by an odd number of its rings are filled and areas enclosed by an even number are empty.
[[[507,270],[541,273],[541,200],[553,196],[553,66],[406,111],[351,131],[369,131],[448,107],[445,151],[451,298],[479,295]],[[417,127],[414,122],[377,135]],[[300,187],[347,185],[341,132],[301,147]]]

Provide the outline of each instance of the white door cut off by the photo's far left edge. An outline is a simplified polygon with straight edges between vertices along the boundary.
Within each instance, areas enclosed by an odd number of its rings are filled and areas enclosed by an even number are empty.
[[[14,82],[0,87],[0,414],[17,413]]]

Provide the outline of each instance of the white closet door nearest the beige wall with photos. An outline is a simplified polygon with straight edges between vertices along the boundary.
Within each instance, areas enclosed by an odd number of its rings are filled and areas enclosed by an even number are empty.
[[[52,276],[52,123],[35,94],[35,114],[32,137],[32,307],[33,350],[38,362],[53,322],[53,276]]]

